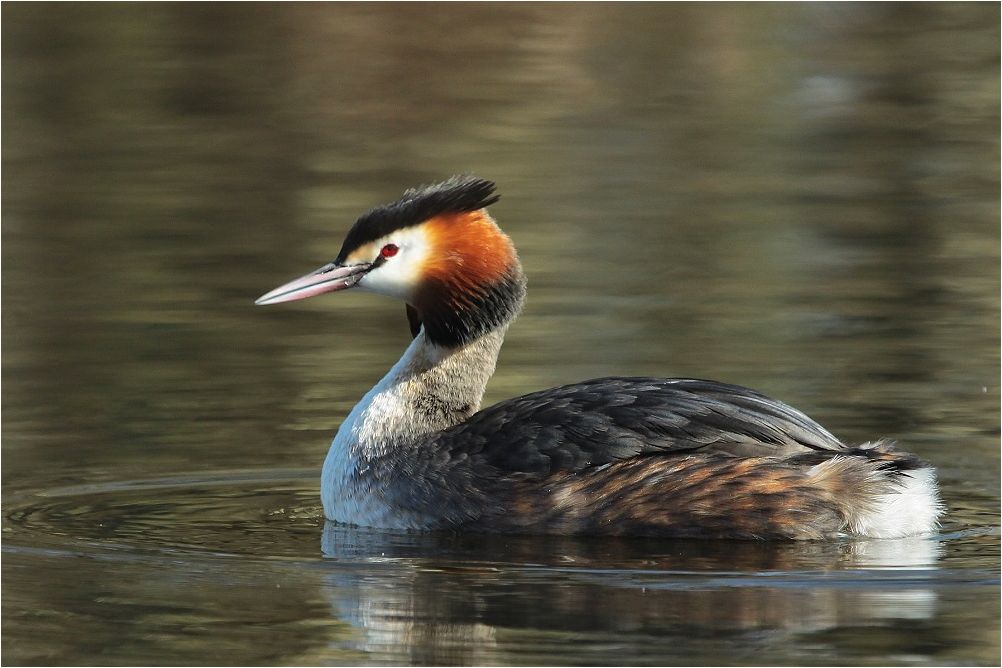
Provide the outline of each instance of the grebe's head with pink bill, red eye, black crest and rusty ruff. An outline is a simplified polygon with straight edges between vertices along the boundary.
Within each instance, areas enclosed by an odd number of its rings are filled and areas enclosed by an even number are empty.
[[[258,304],[294,301],[351,287],[402,299],[412,332],[455,348],[510,322],[525,278],[511,239],[486,207],[494,183],[454,176],[407,190],[349,230],[334,261],[275,288]]]

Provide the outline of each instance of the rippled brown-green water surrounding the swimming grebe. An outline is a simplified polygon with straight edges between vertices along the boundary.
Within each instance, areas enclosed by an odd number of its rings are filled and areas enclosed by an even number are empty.
[[[996,664],[999,6],[5,4],[7,664]],[[256,308],[473,172],[528,305],[487,403],[747,385],[939,468],[943,533],[324,526],[409,336]]]

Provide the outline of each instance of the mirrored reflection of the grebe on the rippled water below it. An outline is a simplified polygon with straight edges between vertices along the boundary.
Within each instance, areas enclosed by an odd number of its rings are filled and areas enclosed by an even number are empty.
[[[337,560],[325,580],[332,614],[356,631],[341,649],[484,664],[512,660],[511,638],[499,643],[498,634],[526,634],[526,642],[540,631],[641,634],[652,651],[692,657],[715,651],[698,646],[720,638],[755,645],[818,634],[824,644],[824,632],[846,626],[930,619],[937,594],[926,579],[943,546],[918,537],[769,543],[405,534],[327,522],[323,552]]]

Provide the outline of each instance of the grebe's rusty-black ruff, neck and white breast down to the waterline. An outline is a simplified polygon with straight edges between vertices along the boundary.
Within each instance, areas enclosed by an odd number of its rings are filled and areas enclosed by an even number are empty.
[[[324,513],[333,520],[428,527],[439,517],[432,498],[446,514],[469,515],[462,507],[471,490],[452,489],[429,473],[438,455],[431,437],[480,408],[505,331],[521,309],[525,277],[511,240],[486,211],[424,224],[435,252],[408,295],[417,336],[331,444],[321,489]],[[415,504],[417,498],[428,503]]]

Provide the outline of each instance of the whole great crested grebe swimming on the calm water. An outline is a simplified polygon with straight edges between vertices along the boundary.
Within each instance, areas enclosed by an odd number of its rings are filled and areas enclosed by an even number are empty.
[[[455,176],[355,223],[333,262],[257,303],[359,287],[402,299],[414,341],[338,430],[321,494],[386,529],[744,539],[934,531],[935,471],[887,441],[847,446],[758,392],[604,378],[478,411],[525,277]]]

